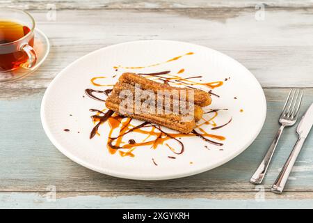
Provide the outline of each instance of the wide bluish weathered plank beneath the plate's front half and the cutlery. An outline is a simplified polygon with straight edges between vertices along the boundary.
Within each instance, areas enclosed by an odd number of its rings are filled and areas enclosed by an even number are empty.
[[[262,132],[244,153],[222,167],[203,174],[162,181],[123,180],[98,174],[62,155],[45,136],[40,123],[44,90],[0,90],[0,190],[45,192],[48,185],[58,191],[77,192],[255,192],[248,180],[278,129],[277,118],[287,89],[265,89],[268,114]],[[302,111],[312,103],[313,89],[305,90]],[[257,111],[256,111],[257,112]],[[279,173],[296,141],[295,128],[288,128],[273,157],[265,190]],[[287,191],[312,191],[313,137],[307,139],[291,174]],[[0,199],[1,200],[1,199]],[[0,202],[1,203],[1,202]]]

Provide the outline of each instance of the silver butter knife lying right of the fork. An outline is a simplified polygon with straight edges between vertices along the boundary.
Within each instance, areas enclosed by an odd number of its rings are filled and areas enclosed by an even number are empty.
[[[294,162],[300,153],[300,150],[309,134],[313,124],[313,104],[307,109],[307,112],[301,118],[300,123],[298,124],[296,132],[298,133],[298,140],[294,145],[293,150],[291,151],[288,160],[282,167],[282,171],[280,171],[280,175],[276,179],[275,183],[273,184],[271,191],[275,194],[281,194],[284,190],[284,186],[287,183],[289,174],[291,173],[292,167],[294,167]]]

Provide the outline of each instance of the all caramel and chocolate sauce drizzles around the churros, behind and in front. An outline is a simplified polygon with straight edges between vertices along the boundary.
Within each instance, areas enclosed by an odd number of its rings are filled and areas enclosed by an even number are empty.
[[[125,68],[125,69],[141,69],[141,68],[149,68],[153,66],[159,66],[163,63],[169,63],[171,61],[176,61],[182,56],[187,56],[187,55],[192,55],[193,52],[189,52],[187,54],[181,55],[181,56],[176,56],[172,59],[169,59],[168,61],[162,62],[162,63],[155,63],[149,66],[137,66],[137,67],[122,67],[122,66],[115,66],[113,68],[118,69],[118,68]],[[177,74],[180,74],[184,72],[184,69],[181,69],[177,72]],[[215,89],[219,86],[223,85],[222,81],[218,82],[207,82],[207,83],[202,83],[202,82],[195,82],[191,79],[198,79],[201,78],[202,76],[194,76],[194,77],[179,77],[178,75],[170,75],[170,71],[163,71],[163,72],[154,72],[154,73],[138,73],[138,75],[145,75],[147,76],[148,79],[152,80],[161,80],[164,84],[170,84],[170,85],[182,85],[191,89],[196,89],[193,86],[205,86],[209,88],[210,90],[208,91],[211,95],[216,95],[212,93],[211,89]],[[94,86],[113,86],[112,84],[98,84],[96,82],[97,79],[103,79],[106,77],[93,77],[90,82]],[[93,89],[86,89],[86,94],[90,97],[93,98],[94,100],[100,100],[100,101],[105,101],[102,98],[96,97],[93,93],[104,93],[104,95],[108,95],[111,93],[112,89],[106,89],[105,91],[97,91]],[[218,95],[216,95],[219,97]],[[90,109],[90,112],[96,112],[91,118],[93,119],[93,122],[95,123],[95,126],[93,130],[90,132],[90,139],[95,137],[96,134],[99,135],[98,129],[99,126],[102,125],[103,123],[107,122],[109,124],[109,136],[108,136],[108,142],[106,147],[109,150],[109,153],[114,154],[117,151],[120,153],[122,157],[129,156],[129,157],[134,157],[134,150],[138,147],[141,146],[150,146],[150,148],[156,149],[158,146],[166,146],[167,148],[172,151],[172,153],[175,153],[176,155],[184,153],[184,144],[181,140],[182,137],[200,137],[204,141],[207,141],[209,144],[214,144],[215,146],[223,146],[220,141],[225,140],[225,137],[221,135],[216,135],[216,134],[209,134],[206,132],[203,128],[202,125],[211,125],[213,128],[211,130],[216,130],[219,128],[223,128],[225,125],[230,123],[228,121],[224,125],[216,125],[216,122],[214,119],[218,116],[218,112],[220,110],[227,110],[227,109],[212,109],[209,112],[204,112],[204,114],[213,114],[209,119],[202,117],[202,123],[199,123],[196,128],[189,134],[183,134],[183,133],[170,133],[166,132],[161,128],[160,125],[149,123],[149,122],[143,122],[140,125],[134,125],[132,123],[132,118],[121,116],[119,114],[116,114],[115,112],[108,110],[104,112],[106,109],[99,110],[99,109]],[[129,140],[123,140],[123,138],[127,135],[130,134],[131,132],[135,134],[143,134],[145,136],[145,139],[142,141],[136,142],[134,139],[129,139]],[[127,142],[125,142],[127,141]],[[174,146],[170,145],[168,142],[170,141],[175,141],[175,144],[178,145],[178,148],[174,148]],[[175,159],[175,157],[168,156],[169,158]],[[154,162],[154,160],[152,159]],[[154,162],[155,165],[157,165]]]

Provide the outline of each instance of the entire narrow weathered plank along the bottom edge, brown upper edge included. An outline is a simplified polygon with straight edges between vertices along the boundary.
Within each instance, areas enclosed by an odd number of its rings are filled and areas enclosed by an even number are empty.
[[[309,193],[178,193],[0,192],[0,208],[312,208]],[[125,210],[127,213],[127,210]]]

